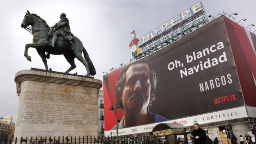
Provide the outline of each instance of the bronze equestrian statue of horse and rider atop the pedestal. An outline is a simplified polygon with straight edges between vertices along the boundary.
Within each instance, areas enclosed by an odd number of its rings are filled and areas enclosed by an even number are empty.
[[[36,51],[44,62],[46,70],[48,70],[46,58],[50,58],[50,54],[63,54],[71,65],[65,73],[76,68],[74,58],[77,58],[84,64],[87,71],[86,76],[94,76],[96,74],[94,65],[82,42],[70,32],[69,21],[66,18],[66,14],[62,13],[60,15],[60,21],[50,28],[46,21],[40,18],[40,16],[30,14],[28,10],[27,12],[21,23],[21,27],[33,35],[33,43],[25,45],[24,56],[27,60],[31,62],[31,57],[28,56],[28,48],[36,48]],[[29,27],[30,25],[31,28]],[[82,53],[84,53],[84,58]]]

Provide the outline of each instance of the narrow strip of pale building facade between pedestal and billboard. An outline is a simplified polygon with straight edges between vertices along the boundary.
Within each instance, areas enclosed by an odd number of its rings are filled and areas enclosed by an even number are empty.
[[[99,136],[104,136],[104,103],[103,90],[98,90],[98,132]]]

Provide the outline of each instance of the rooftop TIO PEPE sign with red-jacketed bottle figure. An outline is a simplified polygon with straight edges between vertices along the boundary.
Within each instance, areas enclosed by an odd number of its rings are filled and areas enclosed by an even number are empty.
[[[171,44],[192,32],[195,28],[199,28],[199,25],[208,21],[204,14],[202,3],[198,2],[191,8],[174,16],[168,22],[140,37],[140,39],[136,38],[135,30],[133,30],[131,32],[132,40],[129,45],[132,50],[132,56],[139,59],[138,56],[140,54],[146,56]]]

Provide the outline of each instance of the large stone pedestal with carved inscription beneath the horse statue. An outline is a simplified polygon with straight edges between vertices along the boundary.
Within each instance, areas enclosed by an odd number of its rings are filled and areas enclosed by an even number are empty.
[[[15,82],[20,100],[14,138],[98,135],[101,80],[32,69],[17,72]]]

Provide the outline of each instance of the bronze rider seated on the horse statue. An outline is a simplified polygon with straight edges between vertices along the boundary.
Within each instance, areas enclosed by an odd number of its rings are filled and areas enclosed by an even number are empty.
[[[52,28],[55,28],[54,34],[52,37],[52,43],[50,44],[50,46],[52,46],[53,48],[58,36],[63,36],[63,38],[66,41],[71,41],[73,39],[72,38],[73,34],[70,32],[69,21],[68,21],[68,18],[66,18],[65,13],[60,14],[60,21],[56,23],[54,26],[52,26]],[[48,33],[48,35],[51,35],[51,34]],[[46,58],[50,58],[49,53],[46,55]]]

